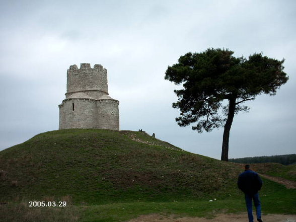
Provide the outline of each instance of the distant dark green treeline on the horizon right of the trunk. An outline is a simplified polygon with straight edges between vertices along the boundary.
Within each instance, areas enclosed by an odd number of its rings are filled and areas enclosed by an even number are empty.
[[[229,162],[240,164],[257,164],[257,163],[280,163],[283,165],[296,164],[296,154],[276,155],[271,157],[245,157],[229,159]]]

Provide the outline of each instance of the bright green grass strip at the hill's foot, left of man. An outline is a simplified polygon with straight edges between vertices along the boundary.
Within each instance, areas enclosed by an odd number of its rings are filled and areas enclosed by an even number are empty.
[[[131,202],[82,207],[81,221],[126,221],[143,214],[158,213],[178,216],[212,217],[213,212],[226,212],[226,207],[237,207],[234,201]],[[237,207],[238,208],[238,207]],[[240,206],[240,209],[243,205]]]

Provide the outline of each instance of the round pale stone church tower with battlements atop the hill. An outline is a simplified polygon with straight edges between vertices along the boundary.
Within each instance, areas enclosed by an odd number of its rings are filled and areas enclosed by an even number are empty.
[[[59,129],[119,130],[119,101],[108,94],[107,69],[90,63],[67,70],[66,98],[59,107]]]

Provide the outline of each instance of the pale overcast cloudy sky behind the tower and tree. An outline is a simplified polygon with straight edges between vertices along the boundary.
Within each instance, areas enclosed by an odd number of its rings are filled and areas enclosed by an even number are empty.
[[[220,159],[223,128],[180,127],[168,65],[209,47],[285,59],[289,80],[246,102],[234,118],[230,158],[296,153],[296,1],[0,0],[0,150],[58,129],[72,64],[102,64],[120,101],[120,129],[143,129]]]

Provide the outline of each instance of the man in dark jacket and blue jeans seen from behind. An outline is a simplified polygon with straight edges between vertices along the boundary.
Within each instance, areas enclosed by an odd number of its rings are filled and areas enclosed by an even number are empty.
[[[262,222],[261,203],[258,194],[258,191],[262,187],[262,180],[256,172],[251,171],[250,165],[246,165],[245,172],[240,174],[238,179],[238,187],[245,193],[249,222],[254,222],[252,199],[254,200],[254,205],[256,207],[257,220],[258,222]]]

